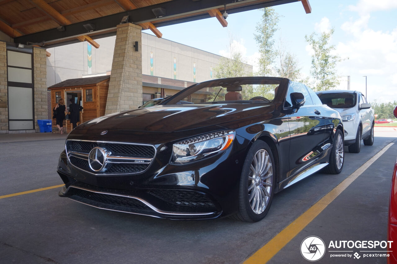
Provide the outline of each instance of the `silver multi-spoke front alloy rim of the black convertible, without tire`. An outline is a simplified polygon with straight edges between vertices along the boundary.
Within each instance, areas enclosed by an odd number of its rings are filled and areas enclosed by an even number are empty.
[[[258,150],[254,155],[248,181],[251,209],[255,214],[261,214],[269,204],[273,188],[272,159],[265,149]]]

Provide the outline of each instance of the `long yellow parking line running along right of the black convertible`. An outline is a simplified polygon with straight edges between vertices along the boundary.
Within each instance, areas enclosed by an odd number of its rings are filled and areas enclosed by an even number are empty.
[[[343,182],[338,184],[329,193],[327,193],[320,201],[312,205],[306,212],[301,214],[297,219],[295,219],[291,224],[279,232],[275,237],[273,237],[266,245],[256,251],[252,256],[250,256],[244,264],[265,264],[274,255],[278,253],[291,239],[293,239],[297,234],[299,234],[303,228],[305,228],[322,210],[324,210],[343,190],[347,188],[358,176],[360,176],[372,163],[374,163],[380,156],[382,156],[389,147],[394,143],[389,143],[382,150],[380,150],[376,155],[364,163],[355,172],[349,175]]]

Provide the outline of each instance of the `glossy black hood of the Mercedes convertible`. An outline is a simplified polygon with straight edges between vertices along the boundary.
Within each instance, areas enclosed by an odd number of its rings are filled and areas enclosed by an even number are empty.
[[[271,113],[273,104],[156,105],[87,121],[77,129],[177,132]]]

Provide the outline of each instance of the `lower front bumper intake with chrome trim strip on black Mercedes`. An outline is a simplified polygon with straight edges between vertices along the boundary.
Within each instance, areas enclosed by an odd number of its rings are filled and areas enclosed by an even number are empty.
[[[168,219],[210,219],[222,211],[205,193],[162,189],[123,191],[75,182],[59,195],[99,209]]]

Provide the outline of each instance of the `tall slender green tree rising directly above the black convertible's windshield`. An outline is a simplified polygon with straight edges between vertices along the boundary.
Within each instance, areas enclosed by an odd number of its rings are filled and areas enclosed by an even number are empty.
[[[274,48],[274,33],[278,30],[277,23],[279,14],[273,8],[262,8],[263,11],[261,21],[256,25],[254,38],[259,48],[259,76],[272,76],[272,65],[277,56]]]

